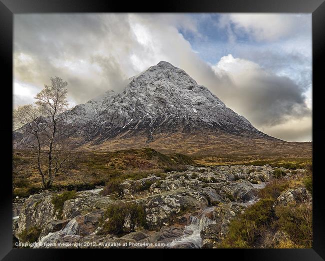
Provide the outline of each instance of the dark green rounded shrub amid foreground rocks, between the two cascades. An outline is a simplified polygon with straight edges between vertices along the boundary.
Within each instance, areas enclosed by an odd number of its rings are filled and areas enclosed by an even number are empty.
[[[124,223],[129,220],[129,228],[125,231]],[[144,207],[135,203],[118,203],[110,205],[100,221],[101,234],[121,234],[132,232],[136,226],[146,228]]]

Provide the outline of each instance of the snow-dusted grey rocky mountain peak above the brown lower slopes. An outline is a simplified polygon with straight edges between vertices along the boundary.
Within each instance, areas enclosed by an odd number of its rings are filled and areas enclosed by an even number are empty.
[[[109,90],[69,114],[66,135],[81,144],[124,137],[151,142],[159,135],[193,131],[270,138],[184,70],[164,61],[131,77],[121,93]]]

